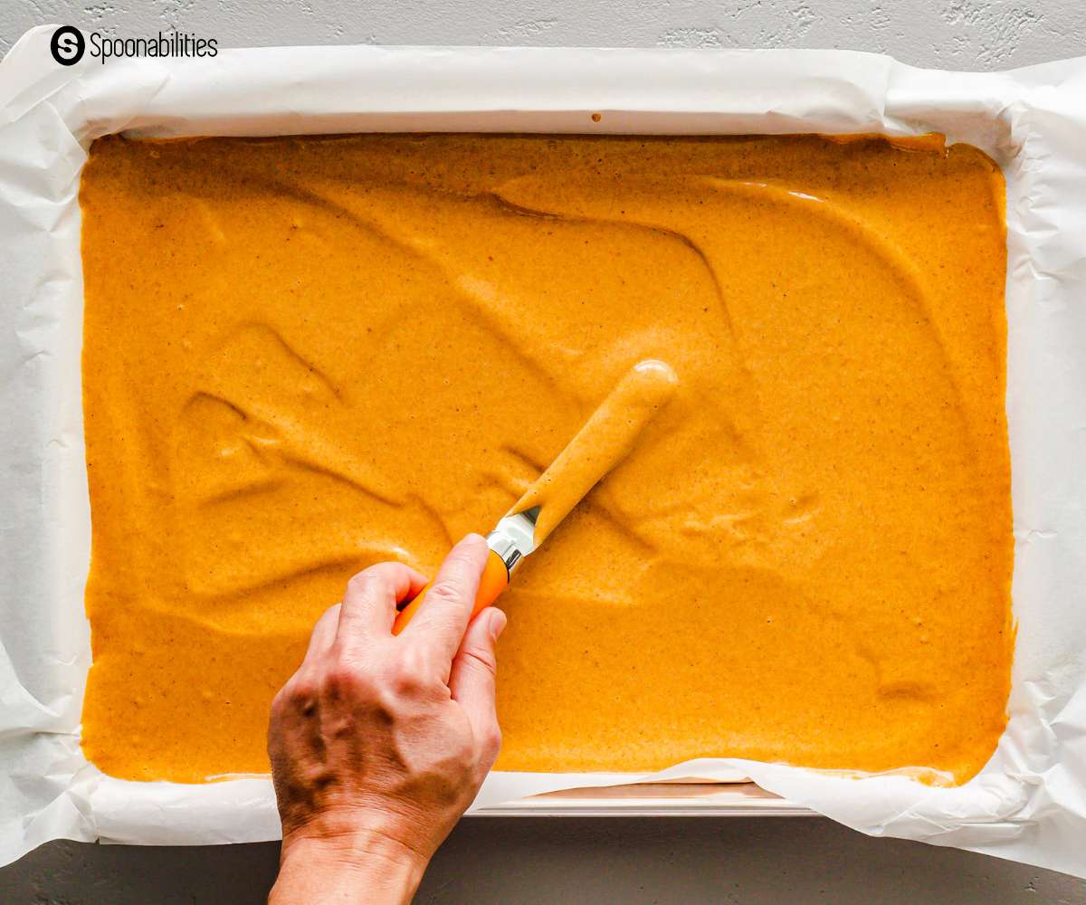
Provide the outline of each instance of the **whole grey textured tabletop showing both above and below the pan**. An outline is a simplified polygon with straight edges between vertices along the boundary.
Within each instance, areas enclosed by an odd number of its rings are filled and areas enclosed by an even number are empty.
[[[223,46],[497,43],[829,47],[992,70],[1086,53],[1082,0],[0,0],[0,52],[33,25],[118,36],[177,27]],[[1086,840],[1083,840],[1086,845]],[[261,902],[275,845],[53,843],[0,870],[0,902]],[[825,820],[476,818],[439,853],[419,902],[1086,903],[1086,882]]]

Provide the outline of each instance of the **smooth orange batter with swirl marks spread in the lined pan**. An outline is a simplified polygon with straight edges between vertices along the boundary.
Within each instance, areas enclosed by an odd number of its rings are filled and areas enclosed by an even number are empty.
[[[502,598],[498,768],[968,779],[1013,642],[1002,198],[932,138],[96,142],[87,756],[266,771],[346,578],[432,571],[659,359]]]

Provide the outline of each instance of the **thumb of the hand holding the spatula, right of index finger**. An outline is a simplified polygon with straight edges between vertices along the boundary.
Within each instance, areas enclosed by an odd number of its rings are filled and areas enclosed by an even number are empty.
[[[449,675],[449,690],[471,724],[488,768],[502,746],[502,730],[494,708],[494,677],[497,675],[494,644],[504,628],[505,614],[501,609],[493,606],[483,609],[464,633]]]

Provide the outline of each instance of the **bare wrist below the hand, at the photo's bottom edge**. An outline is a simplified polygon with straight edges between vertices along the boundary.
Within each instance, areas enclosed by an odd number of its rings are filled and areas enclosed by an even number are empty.
[[[372,828],[307,827],[283,837],[270,905],[411,902],[428,858]]]

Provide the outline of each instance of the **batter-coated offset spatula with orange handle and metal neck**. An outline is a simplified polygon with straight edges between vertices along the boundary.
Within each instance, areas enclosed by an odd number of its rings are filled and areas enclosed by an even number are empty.
[[[520,561],[539,549],[599,479],[626,458],[678,384],[671,367],[655,359],[639,362],[627,372],[569,445],[487,536],[490,555],[472,616],[497,599]],[[403,631],[418,613],[432,583],[400,611],[393,634]]]

